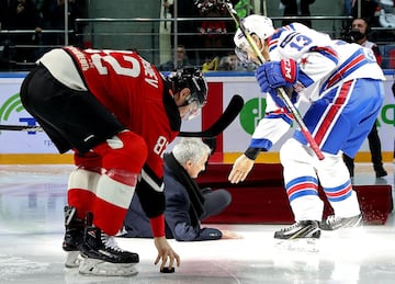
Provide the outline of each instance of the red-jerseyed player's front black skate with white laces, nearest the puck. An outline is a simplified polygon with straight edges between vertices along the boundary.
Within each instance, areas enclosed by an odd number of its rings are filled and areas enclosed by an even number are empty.
[[[80,247],[82,260],[79,272],[110,276],[136,274],[135,264],[139,262],[138,254],[122,250],[114,237],[92,227],[91,219],[92,216],[87,216],[90,225],[86,227],[83,243]]]

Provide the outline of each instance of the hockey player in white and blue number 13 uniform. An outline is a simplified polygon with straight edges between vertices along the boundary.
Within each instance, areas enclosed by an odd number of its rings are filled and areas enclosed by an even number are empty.
[[[284,184],[295,224],[275,231],[276,239],[318,239],[320,229],[362,224],[362,215],[342,154],[354,157],[383,103],[384,75],[371,49],[293,23],[274,30],[272,21],[249,15],[244,25],[267,63],[256,79],[267,95],[267,115],[257,126],[248,149],[235,161],[229,181],[244,181],[260,151],[269,151],[291,127],[293,115],[276,94],[284,88],[293,103],[309,102],[303,121],[325,159],[319,160],[301,130],[280,149]],[[239,57],[257,64],[257,55],[238,30],[234,37]],[[318,184],[335,215],[323,219]]]

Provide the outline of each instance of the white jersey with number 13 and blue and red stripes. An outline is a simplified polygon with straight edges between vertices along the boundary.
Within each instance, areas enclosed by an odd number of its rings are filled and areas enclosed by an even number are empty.
[[[291,90],[297,98],[296,107],[302,100],[312,104],[320,100],[331,103],[334,98],[326,98],[328,92],[353,79],[385,80],[370,48],[331,39],[300,23],[278,29],[267,44],[271,60],[292,58],[300,67]],[[347,100],[347,95],[341,100]],[[267,95],[267,114],[258,124],[249,147],[268,151],[290,129],[292,121],[292,114]],[[324,136],[325,133],[315,135]]]

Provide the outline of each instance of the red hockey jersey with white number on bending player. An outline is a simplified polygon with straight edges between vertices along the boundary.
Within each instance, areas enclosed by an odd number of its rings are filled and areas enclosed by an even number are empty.
[[[162,178],[162,154],[178,132],[163,105],[163,78],[134,52],[64,47],[78,64],[89,91],[148,146],[146,166]]]

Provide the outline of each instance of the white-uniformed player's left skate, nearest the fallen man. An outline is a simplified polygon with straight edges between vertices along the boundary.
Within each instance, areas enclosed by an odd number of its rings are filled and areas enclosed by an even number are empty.
[[[275,246],[280,249],[317,252],[320,229],[318,221],[301,220],[274,232]]]

